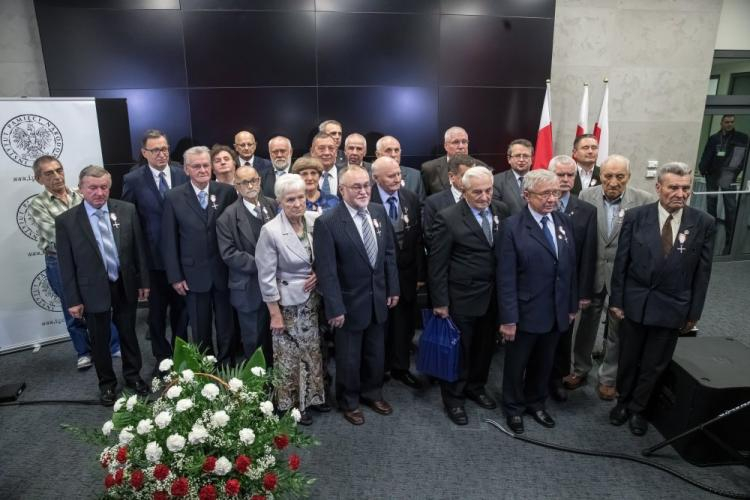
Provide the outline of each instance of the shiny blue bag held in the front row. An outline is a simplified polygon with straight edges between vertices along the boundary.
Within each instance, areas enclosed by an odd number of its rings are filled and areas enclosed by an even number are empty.
[[[417,370],[446,382],[455,382],[461,349],[458,328],[450,318],[435,316],[431,309],[422,309],[422,325]]]

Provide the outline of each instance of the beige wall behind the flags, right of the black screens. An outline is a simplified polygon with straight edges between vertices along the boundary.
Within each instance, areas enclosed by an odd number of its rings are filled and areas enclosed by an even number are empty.
[[[589,126],[609,78],[610,153],[631,159],[633,185],[653,189],[648,160],[693,165],[721,0],[557,0],[552,51],[555,151],[569,154],[583,83]]]

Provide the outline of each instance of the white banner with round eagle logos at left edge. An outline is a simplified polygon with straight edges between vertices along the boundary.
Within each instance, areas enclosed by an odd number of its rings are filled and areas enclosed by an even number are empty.
[[[60,159],[69,187],[86,165],[102,165],[93,98],[0,99],[0,352],[68,338],[60,301],[47,283],[37,228],[28,210],[44,188],[31,168]],[[72,347],[71,347],[72,349]]]

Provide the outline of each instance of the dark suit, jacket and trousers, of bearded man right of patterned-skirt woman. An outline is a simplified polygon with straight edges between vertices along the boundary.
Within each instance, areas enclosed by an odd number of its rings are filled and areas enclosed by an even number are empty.
[[[326,319],[345,315],[336,330],[336,397],[352,411],[360,396],[382,400],[386,298],[399,295],[393,228],[381,205],[370,203],[378,254],[370,265],[345,203],[315,221],[315,273]]]

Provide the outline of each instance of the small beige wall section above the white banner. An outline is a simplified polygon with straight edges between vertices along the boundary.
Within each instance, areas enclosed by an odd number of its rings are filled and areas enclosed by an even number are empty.
[[[1,0],[0,97],[49,96],[32,0]]]

